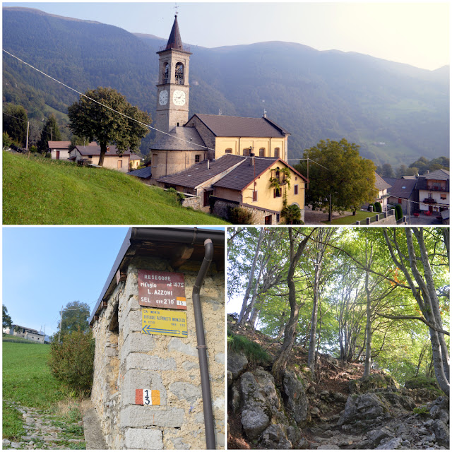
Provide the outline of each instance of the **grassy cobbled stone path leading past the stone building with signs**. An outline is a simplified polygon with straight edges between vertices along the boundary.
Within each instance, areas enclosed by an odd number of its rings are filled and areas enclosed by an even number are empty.
[[[40,415],[34,408],[27,408],[15,402],[9,405],[16,408],[23,417],[23,428],[27,432],[21,441],[2,441],[4,449],[68,449],[85,448],[84,439],[68,439],[69,436],[61,427],[56,427],[52,423],[52,416]],[[83,422],[78,422],[83,425]]]

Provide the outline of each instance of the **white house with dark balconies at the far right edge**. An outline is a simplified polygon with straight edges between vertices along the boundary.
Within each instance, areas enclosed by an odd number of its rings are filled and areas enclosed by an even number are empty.
[[[419,209],[424,212],[441,213],[449,210],[450,173],[446,169],[436,169],[423,174],[417,179],[416,189],[419,192]]]

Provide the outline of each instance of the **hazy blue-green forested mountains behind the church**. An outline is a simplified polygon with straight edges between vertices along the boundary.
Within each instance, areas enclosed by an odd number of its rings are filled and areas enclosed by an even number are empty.
[[[153,115],[155,52],[165,40],[27,8],[3,11],[8,52],[81,92],[111,86]],[[420,155],[439,157],[448,150],[448,67],[425,71],[289,42],[191,52],[190,114],[259,117],[265,108],[292,133],[291,158],[321,139],[343,137],[361,145],[362,155],[376,164],[408,165]],[[32,117],[42,115],[45,105],[66,113],[76,99],[6,54],[3,67],[4,102],[23,105]]]

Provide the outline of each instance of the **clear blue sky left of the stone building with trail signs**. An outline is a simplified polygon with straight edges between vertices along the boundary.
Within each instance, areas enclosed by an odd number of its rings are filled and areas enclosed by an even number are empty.
[[[3,227],[3,304],[13,323],[52,335],[59,311],[93,309],[126,227]]]

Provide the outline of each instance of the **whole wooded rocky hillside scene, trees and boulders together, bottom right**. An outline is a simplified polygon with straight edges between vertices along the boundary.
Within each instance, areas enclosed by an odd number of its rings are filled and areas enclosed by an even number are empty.
[[[228,234],[237,437],[259,448],[448,446],[448,229]]]

